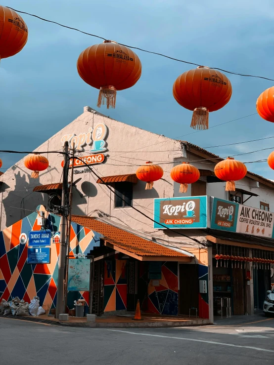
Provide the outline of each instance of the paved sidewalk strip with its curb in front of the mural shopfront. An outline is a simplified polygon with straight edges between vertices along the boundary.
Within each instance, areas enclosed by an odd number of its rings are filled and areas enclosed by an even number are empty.
[[[87,322],[87,318],[69,317],[69,321],[62,322],[54,317],[42,315],[39,317],[32,316],[3,316],[0,318],[12,318],[44,324],[68,325],[73,327],[95,327],[95,328],[132,328],[132,327],[181,327],[189,325],[205,325],[209,320],[185,317],[185,316],[161,316],[142,314],[142,321],[133,321],[134,316],[101,316],[96,317],[95,323]]]

